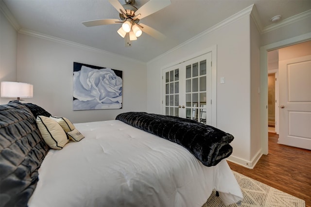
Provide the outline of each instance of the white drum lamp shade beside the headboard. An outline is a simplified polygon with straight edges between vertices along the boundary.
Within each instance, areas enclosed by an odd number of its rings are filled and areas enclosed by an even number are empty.
[[[8,98],[32,98],[34,96],[34,86],[22,82],[1,82],[1,97]]]

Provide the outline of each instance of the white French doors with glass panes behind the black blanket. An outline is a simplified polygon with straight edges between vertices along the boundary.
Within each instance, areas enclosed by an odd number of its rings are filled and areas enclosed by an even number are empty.
[[[163,111],[211,125],[211,52],[163,70]]]

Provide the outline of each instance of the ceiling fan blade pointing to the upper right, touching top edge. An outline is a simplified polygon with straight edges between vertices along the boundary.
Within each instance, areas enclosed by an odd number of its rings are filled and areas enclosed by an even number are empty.
[[[171,0],[150,0],[147,3],[145,3],[144,5],[142,5],[136,12],[135,14],[141,14],[141,16],[139,16],[139,19],[142,19],[146,16],[149,16],[161,9],[163,9],[164,7],[167,7],[168,5],[171,4]]]

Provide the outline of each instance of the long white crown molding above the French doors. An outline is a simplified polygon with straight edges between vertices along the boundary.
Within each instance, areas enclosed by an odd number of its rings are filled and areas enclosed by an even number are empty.
[[[243,18],[245,16],[249,16],[251,14],[254,6],[255,5],[252,4],[252,5],[248,6],[248,7],[246,7],[245,9],[241,10],[240,12],[238,12],[238,13],[236,13],[236,14],[228,17],[228,18],[226,18],[225,20],[215,24],[214,26],[208,28],[206,31],[197,34],[196,36],[190,38],[189,40],[183,42],[182,44],[180,44],[180,45],[178,45],[178,46],[168,50],[167,52],[165,52],[165,53],[155,57],[154,59],[149,61],[147,64],[150,64],[150,63],[152,63],[152,62],[154,62],[154,61],[156,61],[156,60],[158,60],[158,59],[160,59],[162,57],[167,56],[169,53],[171,53],[171,52],[173,52],[173,51],[175,51],[175,50],[177,50],[179,48],[182,48],[182,47],[190,44],[191,42],[201,38],[202,36],[205,36],[205,35],[213,32],[213,31],[216,31],[216,30],[218,30],[220,28],[223,28],[223,27],[225,27],[225,26],[227,26],[229,24],[232,24],[233,22],[235,22],[235,21],[237,21],[237,20],[239,20],[239,19],[241,19],[241,18]]]

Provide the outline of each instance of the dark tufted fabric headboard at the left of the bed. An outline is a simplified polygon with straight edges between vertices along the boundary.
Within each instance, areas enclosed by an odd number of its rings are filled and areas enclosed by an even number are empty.
[[[49,151],[32,111],[17,101],[0,105],[0,207],[27,206]]]

